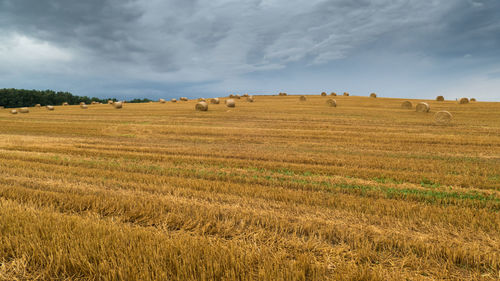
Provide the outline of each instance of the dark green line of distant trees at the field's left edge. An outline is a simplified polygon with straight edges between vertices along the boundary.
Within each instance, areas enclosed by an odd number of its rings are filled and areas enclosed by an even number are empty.
[[[116,101],[116,99],[111,99]],[[84,102],[90,104],[93,101],[106,103],[108,99],[89,98],[87,96],[75,96],[69,92],[55,92],[52,90],[21,90],[21,89],[0,89],[0,106],[4,107],[24,107],[44,105],[61,105],[63,102],[69,104],[79,104]]]

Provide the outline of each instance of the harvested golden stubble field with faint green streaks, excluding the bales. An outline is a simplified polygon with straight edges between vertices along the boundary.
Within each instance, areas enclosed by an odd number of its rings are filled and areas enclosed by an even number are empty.
[[[500,103],[328,98],[0,110],[0,280],[498,280]]]

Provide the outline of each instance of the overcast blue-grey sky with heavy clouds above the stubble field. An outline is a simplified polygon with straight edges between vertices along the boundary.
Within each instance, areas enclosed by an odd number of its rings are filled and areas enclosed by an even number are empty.
[[[500,101],[499,0],[0,0],[0,88]]]

